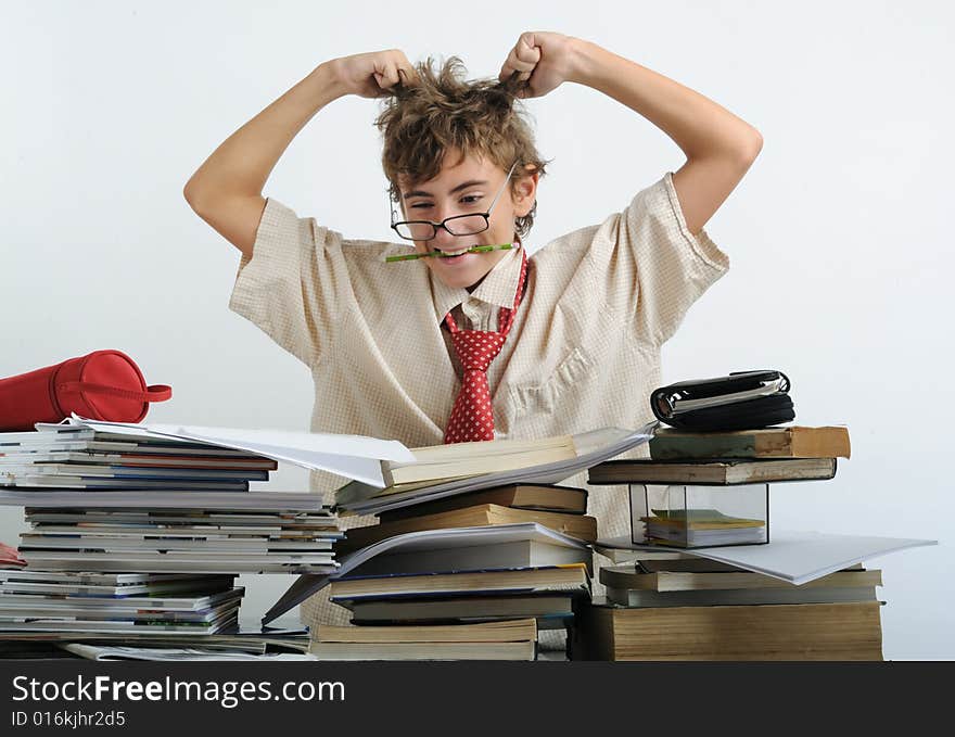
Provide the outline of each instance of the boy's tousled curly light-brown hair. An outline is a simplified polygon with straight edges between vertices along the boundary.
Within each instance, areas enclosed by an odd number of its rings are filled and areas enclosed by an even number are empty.
[[[400,201],[398,176],[411,183],[437,176],[450,149],[461,156],[475,155],[507,171],[517,162],[511,193],[523,176],[545,174],[547,162],[534,144],[534,134],[518,98],[525,82],[515,75],[507,81],[466,80],[461,60],[451,56],[437,68],[430,56],[416,64],[418,79],[396,85],[384,99],[374,122],[383,139],[382,167],[392,198]],[[530,166],[529,166],[530,165]],[[514,221],[526,236],[534,225],[537,202]]]

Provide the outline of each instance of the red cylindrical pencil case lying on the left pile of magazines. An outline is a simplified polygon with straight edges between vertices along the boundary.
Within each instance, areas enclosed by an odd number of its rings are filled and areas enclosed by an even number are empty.
[[[36,422],[60,422],[71,412],[107,422],[139,422],[151,402],[171,396],[170,386],[147,385],[125,353],[93,351],[0,379],[0,431],[33,430]]]

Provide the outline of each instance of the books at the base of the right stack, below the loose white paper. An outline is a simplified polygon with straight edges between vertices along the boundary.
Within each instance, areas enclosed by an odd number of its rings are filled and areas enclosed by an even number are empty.
[[[702,558],[600,570],[606,600],[580,612],[575,660],[881,660],[879,570],[802,585]]]

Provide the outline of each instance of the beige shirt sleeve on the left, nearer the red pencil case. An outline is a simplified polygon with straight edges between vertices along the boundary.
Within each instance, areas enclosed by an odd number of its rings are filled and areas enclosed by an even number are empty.
[[[341,236],[269,198],[229,308],[311,367],[334,340],[347,284]]]

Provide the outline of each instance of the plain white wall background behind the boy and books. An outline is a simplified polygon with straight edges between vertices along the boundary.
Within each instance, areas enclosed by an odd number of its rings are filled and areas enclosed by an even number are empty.
[[[320,62],[400,48],[496,76],[523,30],[593,40],[716,100],[765,144],[708,231],[733,267],[664,352],[664,379],[780,368],[797,420],[845,423],[829,482],[777,486],[773,523],[925,537],[881,558],[887,659],[952,659],[955,567],[953,11],[889,2],[2,3],[0,377],[98,348],[175,398],[149,419],[304,430],[304,366],[227,308],[238,252],[182,187]],[[600,93],[529,103],[552,157],[531,250],[602,220],[679,149]],[[340,100],[265,194],[347,237],[389,238],[377,103]],[[273,486],[304,491],[282,470]],[[22,511],[0,509],[16,542]],[[245,577],[246,615],[284,576]]]

